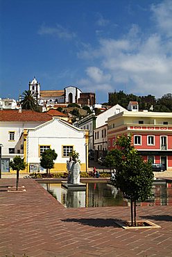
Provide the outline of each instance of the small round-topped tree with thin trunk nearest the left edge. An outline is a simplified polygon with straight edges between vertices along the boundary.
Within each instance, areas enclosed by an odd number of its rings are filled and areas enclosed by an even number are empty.
[[[12,170],[17,171],[16,190],[18,190],[19,171],[24,170],[26,168],[26,163],[24,162],[24,158],[22,159],[20,156],[15,156],[15,158],[13,158],[13,160],[10,161],[10,168]]]

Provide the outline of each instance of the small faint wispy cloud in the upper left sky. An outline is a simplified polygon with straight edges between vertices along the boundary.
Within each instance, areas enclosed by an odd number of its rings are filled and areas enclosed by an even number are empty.
[[[67,28],[62,27],[60,24],[57,24],[55,27],[49,27],[42,25],[38,31],[40,35],[55,35],[58,38],[65,40],[71,40],[76,37],[74,32],[69,31]]]

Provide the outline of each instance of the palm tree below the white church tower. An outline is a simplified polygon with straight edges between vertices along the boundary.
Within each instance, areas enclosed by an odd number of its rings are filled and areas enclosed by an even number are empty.
[[[38,103],[35,94],[30,90],[25,90],[22,94],[22,100],[19,102],[24,110],[38,110]]]

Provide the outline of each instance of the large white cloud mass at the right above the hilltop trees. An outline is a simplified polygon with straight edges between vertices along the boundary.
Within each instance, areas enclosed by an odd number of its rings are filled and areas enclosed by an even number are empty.
[[[150,10],[157,28],[154,33],[152,28],[145,33],[131,24],[121,38],[100,38],[98,47],[80,51],[80,58],[91,57],[94,63],[85,70],[88,88],[93,84],[97,92],[126,88],[127,93],[155,97],[171,92],[172,1],[162,1]]]

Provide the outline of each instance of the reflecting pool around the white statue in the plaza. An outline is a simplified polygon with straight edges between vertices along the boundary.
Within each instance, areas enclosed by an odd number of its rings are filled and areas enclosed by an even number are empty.
[[[63,206],[67,208],[128,206],[120,190],[108,183],[86,183],[86,190],[67,190],[61,183],[40,183]],[[153,197],[138,206],[172,205],[171,183],[153,185]]]

